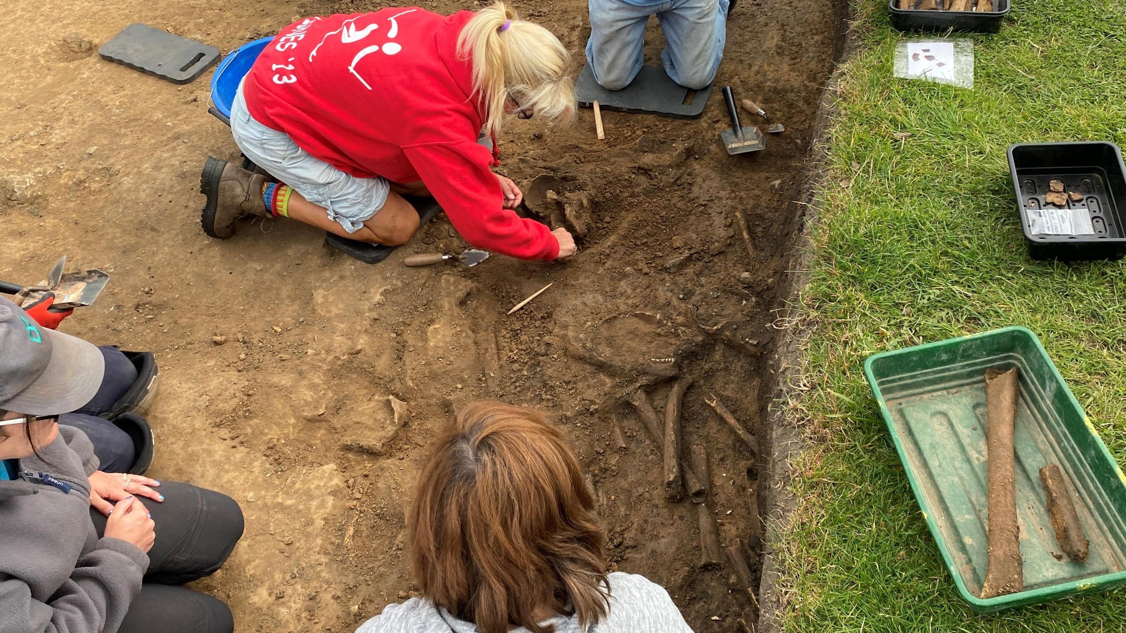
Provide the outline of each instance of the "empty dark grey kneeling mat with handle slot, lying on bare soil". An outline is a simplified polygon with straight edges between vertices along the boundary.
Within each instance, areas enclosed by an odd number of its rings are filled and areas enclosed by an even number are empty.
[[[214,46],[140,23],[102,44],[98,54],[172,83],[190,83],[218,61]]]

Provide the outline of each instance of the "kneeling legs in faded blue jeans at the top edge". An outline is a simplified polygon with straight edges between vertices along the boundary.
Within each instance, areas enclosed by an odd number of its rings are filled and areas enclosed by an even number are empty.
[[[587,63],[607,90],[620,90],[643,65],[645,24],[655,15],[667,46],[664,71],[685,88],[712,83],[723,59],[734,0],[589,0]]]

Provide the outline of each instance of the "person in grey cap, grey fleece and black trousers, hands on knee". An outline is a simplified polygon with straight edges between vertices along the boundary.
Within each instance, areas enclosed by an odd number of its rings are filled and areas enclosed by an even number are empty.
[[[238,503],[166,482],[146,507],[129,475],[98,471],[86,435],[55,421],[102,371],[93,345],[0,298],[0,633],[231,633],[226,605],[177,585],[225,562]],[[90,507],[97,485],[116,501],[108,517]]]

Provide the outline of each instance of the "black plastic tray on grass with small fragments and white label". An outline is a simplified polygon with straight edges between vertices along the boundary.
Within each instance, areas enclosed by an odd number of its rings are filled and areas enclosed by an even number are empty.
[[[1119,259],[1126,255],[1126,166],[1118,145],[1106,141],[1018,143],[1009,148],[1009,172],[1020,224],[1033,259]],[[1052,179],[1083,194],[1067,208],[1085,208],[1092,235],[1033,234],[1029,209],[1043,208]]]

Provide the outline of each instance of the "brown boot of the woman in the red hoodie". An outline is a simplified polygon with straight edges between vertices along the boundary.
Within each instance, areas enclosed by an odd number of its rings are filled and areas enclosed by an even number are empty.
[[[266,178],[225,160],[207,157],[199,175],[199,193],[207,204],[199,214],[204,233],[225,240],[234,234],[234,221],[247,215],[271,217],[262,200]]]

